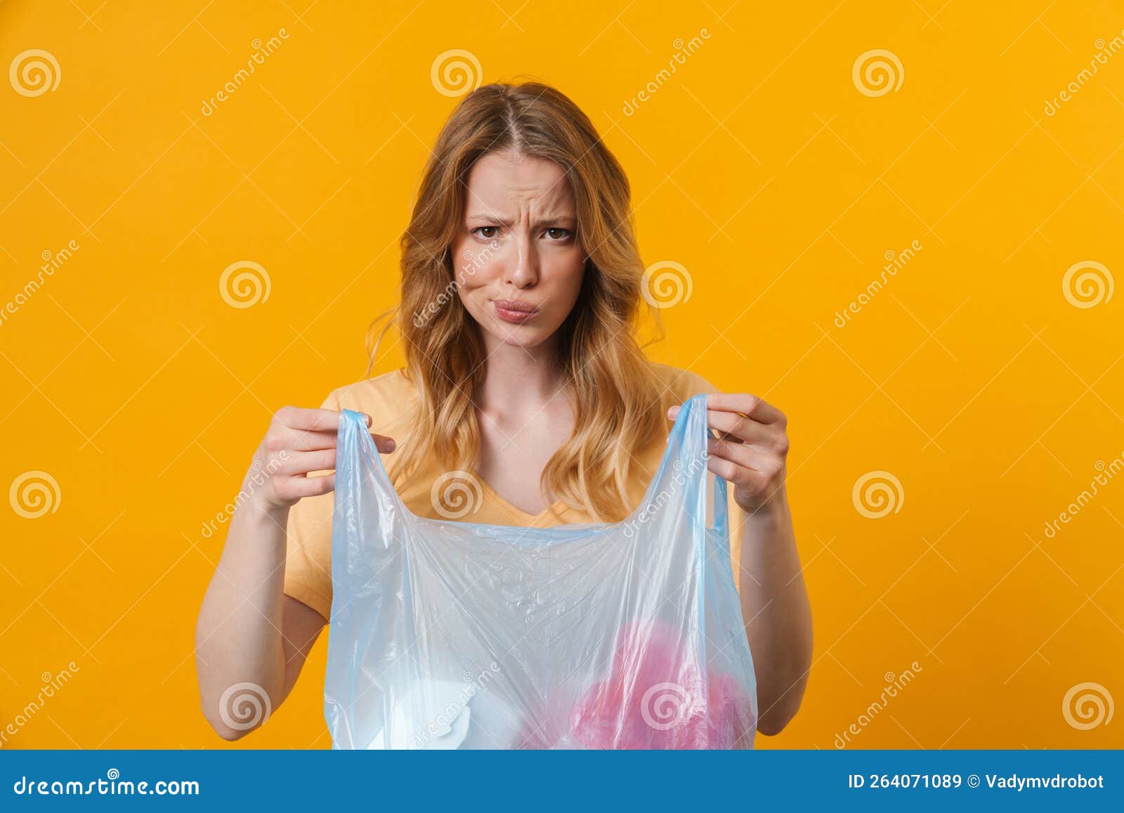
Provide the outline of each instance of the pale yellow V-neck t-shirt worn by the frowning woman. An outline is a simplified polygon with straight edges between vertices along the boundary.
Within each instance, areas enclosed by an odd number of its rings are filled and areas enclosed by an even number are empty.
[[[664,413],[669,407],[682,404],[698,392],[720,391],[701,376],[688,370],[654,362],[652,369],[667,388],[664,391],[665,403],[661,410]],[[323,407],[366,413],[373,419],[372,430],[375,433],[401,442],[415,419],[417,394],[414,385],[399,369],[341,387],[325,399]],[[671,426],[672,422],[669,419],[669,432]],[[640,505],[647,491],[649,484],[655,476],[655,470],[659,468],[660,460],[667,449],[665,441],[667,436],[663,440],[658,439],[655,443],[634,455],[634,464],[626,486],[632,509]],[[383,455],[384,466],[390,466],[392,455],[393,452]],[[417,516],[439,518],[430,502],[429,491],[444,469],[433,455],[429,458],[409,478],[409,482],[398,484],[398,494],[406,507]],[[549,509],[541,514],[527,514],[499,496],[482,478],[478,477],[477,480],[482,497],[480,508],[463,517],[464,522],[527,527],[551,527],[561,523],[592,522],[586,512],[558,504],[561,521],[555,518]],[[741,581],[737,573],[744,512],[734,503],[734,489],[728,484],[726,497],[731,530],[731,566],[734,572],[734,584],[740,589]],[[316,497],[305,497],[290,508],[285,549],[285,595],[307,604],[325,618],[328,618],[332,613],[333,498],[334,495],[330,493]]]

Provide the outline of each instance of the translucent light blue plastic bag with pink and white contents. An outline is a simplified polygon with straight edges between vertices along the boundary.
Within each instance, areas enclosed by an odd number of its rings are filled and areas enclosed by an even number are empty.
[[[756,681],[709,436],[699,394],[627,520],[532,529],[415,516],[344,410],[333,748],[752,748]]]

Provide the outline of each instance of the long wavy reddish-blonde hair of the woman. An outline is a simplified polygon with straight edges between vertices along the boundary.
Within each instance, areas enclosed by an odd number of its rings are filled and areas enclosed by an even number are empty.
[[[644,267],[624,170],[586,114],[560,91],[534,81],[486,84],[465,96],[426,163],[401,236],[400,304],[368,331],[368,376],[383,334],[397,326],[405,372],[419,398],[416,423],[399,443],[390,477],[409,477],[428,453],[446,470],[474,471],[480,451],[474,403],[486,355],[481,328],[455,295],[451,246],[463,227],[469,172],[493,152],[546,159],[562,168],[577,205],[577,237],[588,254],[581,292],[559,327],[555,359],[571,385],[575,428],[544,467],[540,489],[555,516],[556,499],[593,522],[620,521],[632,509],[625,487],[632,453],[668,431],[664,388],[637,342],[644,315],[658,338],[663,328],[641,293]],[[416,314],[427,314],[423,324]]]

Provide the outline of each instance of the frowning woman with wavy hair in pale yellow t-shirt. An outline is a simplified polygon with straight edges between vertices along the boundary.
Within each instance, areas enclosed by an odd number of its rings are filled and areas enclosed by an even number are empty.
[[[628,182],[553,88],[489,84],[464,98],[426,166],[401,268],[406,368],[342,387],[319,409],[282,408],[247,472],[197,629],[202,711],[226,739],[254,728],[232,717],[232,690],[259,693],[263,723],[330,615],[335,482],[321,472],[335,466],[341,409],[366,416],[413,513],[448,517],[457,506],[443,505],[435,484],[452,475],[479,489],[471,515],[456,512],[465,522],[547,526],[627,516],[677,405],[717,392],[637,346],[643,263]],[[758,730],[776,734],[812,661],[786,421],[749,394],[713,395],[708,407],[718,437],[707,468],[732,486],[731,564],[758,665]],[[270,477],[254,488],[262,471]]]

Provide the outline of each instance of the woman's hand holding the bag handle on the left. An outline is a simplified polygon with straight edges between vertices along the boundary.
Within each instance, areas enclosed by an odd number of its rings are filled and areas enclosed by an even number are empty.
[[[371,416],[363,413],[368,428]],[[270,427],[254,452],[251,472],[265,472],[263,485],[254,490],[254,498],[268,513],[285,512],[302,497],[327,494],[336,487],[336,434],[339,412],[335,409],[302,409],[285,406],[278,409]],[[371,433],[375,448],[382,453],[395,451],[395,440]],[[314,471],[330,471],[320,477],[308,477]]]

